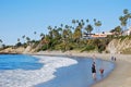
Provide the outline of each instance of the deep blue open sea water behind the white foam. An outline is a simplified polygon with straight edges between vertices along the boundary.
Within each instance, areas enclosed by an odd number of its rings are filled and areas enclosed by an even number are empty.
[[[0,55],[0,71],[1,70],[39,70],[43,63],[38,63],[38,59],[22,55],[22,54],[1,54]]]

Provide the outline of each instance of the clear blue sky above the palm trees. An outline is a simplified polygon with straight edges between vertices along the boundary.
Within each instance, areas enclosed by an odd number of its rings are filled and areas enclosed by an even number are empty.
[[[122,10],[131,12],[131,0],[0,0],[0,39],[14,45],[26,35],[39,39],[47,26],[71,24],[73,18],[102,21],[102,30],[119,25]],[[37,32],[37,35],[34,35]]]

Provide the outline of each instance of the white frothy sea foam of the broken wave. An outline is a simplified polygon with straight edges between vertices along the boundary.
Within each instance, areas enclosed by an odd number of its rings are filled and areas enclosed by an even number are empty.
[[[40,63],[44,63],[40,70],[8,70],[0,72],[0,87],[33,87],[55,78],[53,73],[57,71],[56,69],[78,63],[69,58],[35,57],[40,59]]]

